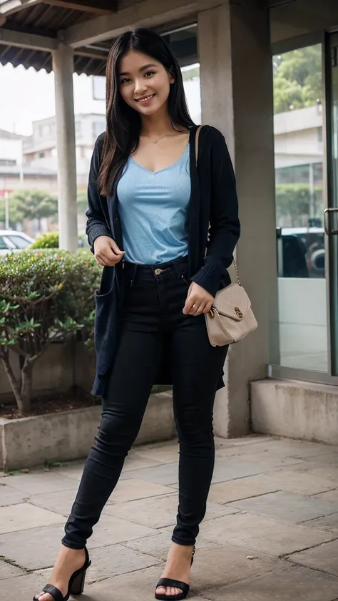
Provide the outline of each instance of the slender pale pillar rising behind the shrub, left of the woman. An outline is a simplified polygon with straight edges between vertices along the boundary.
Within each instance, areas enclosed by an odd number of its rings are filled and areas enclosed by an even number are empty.
[[[76,250],[76,150],[73,97],[73,49],[60,44],[53,51],[58,153],[58,230],[60,248]]]

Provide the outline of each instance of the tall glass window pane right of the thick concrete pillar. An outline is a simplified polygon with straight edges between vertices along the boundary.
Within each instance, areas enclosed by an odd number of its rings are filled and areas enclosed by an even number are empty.
[[[280,362],[327,371],[322,45],[273,57]]]

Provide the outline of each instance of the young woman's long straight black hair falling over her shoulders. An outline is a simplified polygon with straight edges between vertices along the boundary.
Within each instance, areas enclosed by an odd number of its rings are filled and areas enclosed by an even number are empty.
[[[143,27],[120,36],[111,48],[106,66],[106,133],[98,175],[98,189],[104,196],[111,194],[128,156],[136,150],[140,140],[140,113],[128,106],[120,93],[121,59],[130,50],[155,58],[175,79],[168,96],[168,113],[173,127],[190,129],[194,125],[178,60],[164,39]]]

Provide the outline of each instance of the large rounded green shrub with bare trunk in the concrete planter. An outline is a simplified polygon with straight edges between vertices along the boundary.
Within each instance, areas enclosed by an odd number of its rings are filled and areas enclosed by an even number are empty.
[[[93,329],[100,279],[101,267],[86,250],[21,252],[0,260],[0,360],[21,413],[30,408],[34,364],[51,341]],[[20,381],[9,349],[23,358]]]

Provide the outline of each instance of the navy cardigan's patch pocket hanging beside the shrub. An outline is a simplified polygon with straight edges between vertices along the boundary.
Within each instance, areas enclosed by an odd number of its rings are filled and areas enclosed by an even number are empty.
[[[95,292],[95,304],[96,373],[103,376],[113,363],[113,355],[116,349],[118,299],[114,267],[103,269],[100,289]]]

